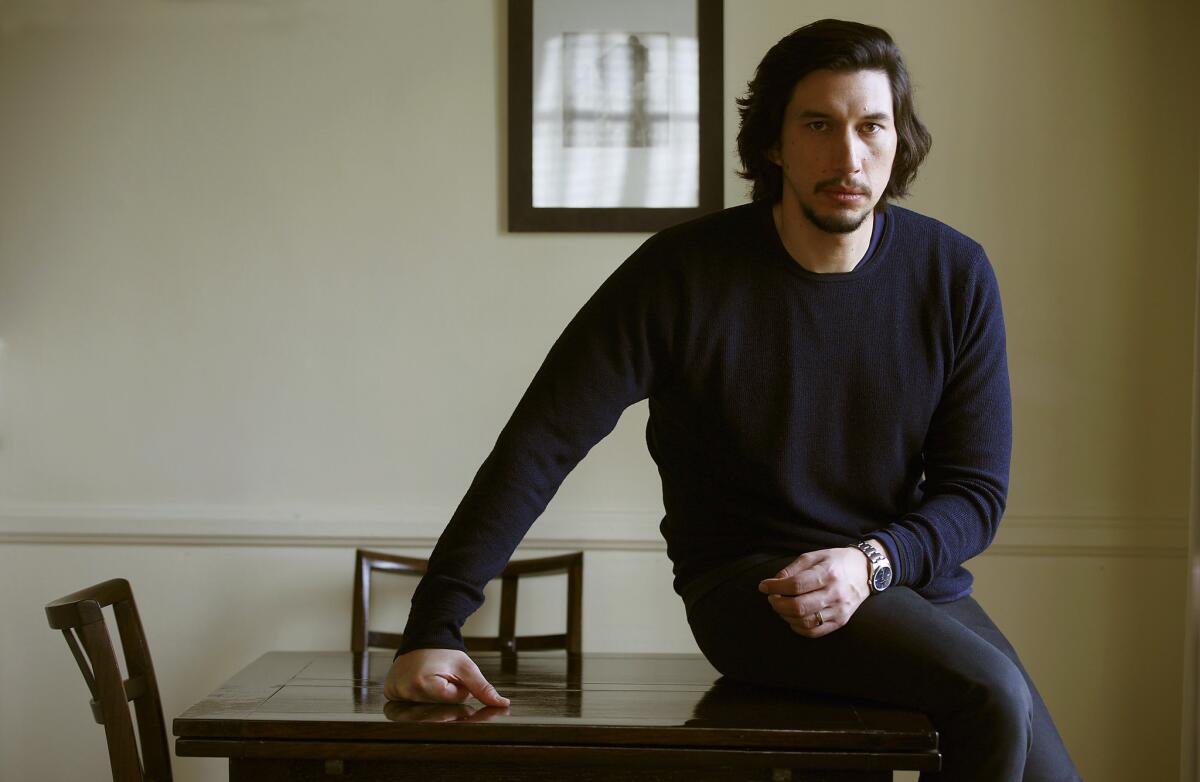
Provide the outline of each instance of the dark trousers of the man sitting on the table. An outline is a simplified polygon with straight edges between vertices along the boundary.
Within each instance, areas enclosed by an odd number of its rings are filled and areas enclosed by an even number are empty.
[[[764,563],[703,595],[688,621],[730,679],[904,705],[938,732],[937,782],[1067,782],[1079,774],[1016,651],[972,597],[931,603],[904,586],[868,597],[845,627],[804,638],[758,582]]]

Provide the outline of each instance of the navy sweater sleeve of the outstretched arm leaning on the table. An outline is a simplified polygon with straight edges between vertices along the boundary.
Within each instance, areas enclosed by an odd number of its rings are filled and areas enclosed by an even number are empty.
[[[463,650],[462,624],[575,465],[662,381],[671,302],[654,240],[634,253],[554,342],[430,557],[404,639]]]

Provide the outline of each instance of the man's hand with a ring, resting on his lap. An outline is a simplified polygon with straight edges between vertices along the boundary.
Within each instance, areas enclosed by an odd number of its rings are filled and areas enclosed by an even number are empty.
[[[826,548],[802,555],[758,583],[770,607],[794,632],[820,638],[846,625],[871,594],[866,555],[857,548]]]

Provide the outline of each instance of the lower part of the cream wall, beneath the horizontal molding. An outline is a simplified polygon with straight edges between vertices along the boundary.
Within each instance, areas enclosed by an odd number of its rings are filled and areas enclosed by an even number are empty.
[[[1021,652],[1084,778],[1177,778],[1182,554],[1000,551],[971,569],[976,596]],[[107,778],[102,730],[66,644],[46,625],[46,602],[128,578],[169,720],[265,650],[346,648],[352,570],[348,546],[0,545],[0,780]],[[553,628],[558,589],[535,581],[522,592],[523,628]],[[409,594],[384,588],[391,609],[376,620],[402,625]],[[496,602],[472,624],[493,621]],[[589,551],[584,606],[590,651],[696,651],[661,552]],[[215,782],[227,768],[175,758],[175,772]]]

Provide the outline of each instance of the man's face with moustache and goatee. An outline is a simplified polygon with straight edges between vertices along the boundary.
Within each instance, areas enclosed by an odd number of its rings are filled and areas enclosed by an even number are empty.
[[[883,196],[896,155],[892,86],[883,71],[814,71],[792,89],[779,145],[782,209],[848,234]]]

